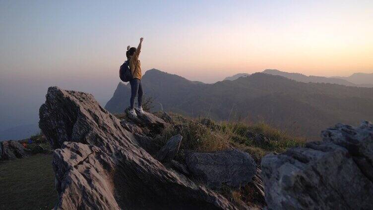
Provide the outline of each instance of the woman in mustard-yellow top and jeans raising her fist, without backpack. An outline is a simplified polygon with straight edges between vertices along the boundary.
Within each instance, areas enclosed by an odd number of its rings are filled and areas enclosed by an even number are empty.
[[[127,52],[125,53],[127,56],[127,60],[129,60],[129,69],[131,70],[132,74],[132,79],[129,80],[129,84],[131,85],[131,98],[129,99],[129,105],[130,105],[130,110],[129,114],[132,116],[136,117],[136,111],[140,113],[144,113],[144,110],[142,110],[142,85],[141,85],[141,63],[140,60],[138,59],[138,56],[140,55],[141,52],[141,43],[144,38],[140,38],[140,43],[138,44],[137,49],[136,48],[130,48],[129,46],[127,47]],[[136,111],[134,108],[134,103],[135,103],[135,98],[137,96],[137,107]]]

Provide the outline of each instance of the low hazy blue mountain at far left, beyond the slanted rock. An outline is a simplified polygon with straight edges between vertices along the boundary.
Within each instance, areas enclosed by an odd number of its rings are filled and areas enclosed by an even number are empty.
[[[0,131],[0,141],[25,139],[39,132],[38,124],[19,125]]]

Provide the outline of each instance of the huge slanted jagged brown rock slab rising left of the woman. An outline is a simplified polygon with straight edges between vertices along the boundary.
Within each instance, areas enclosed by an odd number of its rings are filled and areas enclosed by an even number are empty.
[[[53,160],[56,209],[237,209],[151,157],[92,95],[51,87],[46,98],[39,126],[61,148]]]

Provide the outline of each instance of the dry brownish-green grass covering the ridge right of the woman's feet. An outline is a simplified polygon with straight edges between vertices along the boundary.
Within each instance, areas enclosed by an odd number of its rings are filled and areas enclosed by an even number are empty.
[[[268,153],[281,153],[285,150],[303,146],[306,140],[295,137],[285,131],[271,127],[265,123],[247,124],[240,122],[215,122],[203,118],[188,118],[179,114],[171,114],[176,126],[165,129],[156,142],[163,146],[173,135],[183,136],[181,149],[198,152],[214,152],[236,147],[248,152],[258,164]],[[204,124],[204,125],[203,125]],[[269,142],[256,142],[249,133],[265,135]]]

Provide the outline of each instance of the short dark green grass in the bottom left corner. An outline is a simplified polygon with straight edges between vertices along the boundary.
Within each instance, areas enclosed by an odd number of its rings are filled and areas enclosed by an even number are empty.
[[[52,155],[0,162],[0,209],[52,209],[57,201]]]

